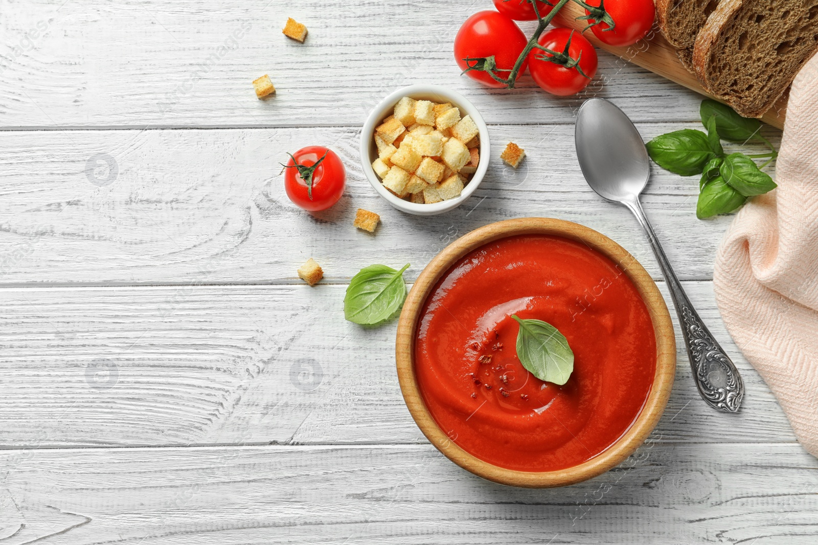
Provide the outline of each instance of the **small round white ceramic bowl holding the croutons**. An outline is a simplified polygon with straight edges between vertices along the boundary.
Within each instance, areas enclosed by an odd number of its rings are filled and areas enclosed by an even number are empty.
[[[480,163],[477,166],[477,172],[474,172],[471,176],[468,185],[465,186],[459,197],[434,204],[410,203],[390,193],[389,190],[380,183],[380,178],[375,174],[375,171],[372,170],[372,163],[375,159],[378,159],[378,150],[375,146],[375,127],[380,125],[384,118],[388,118],[389,115],[392,114],[395,105],[398,104],[398,101],[404,96],[422,101],[451,102],[452,105],[456,105],[460,108],[464,115],[470,115],[474,120],[474,124],[477,125],[480,131]],[[394,208],[415,214],[416,216],[434,216],[459,207],[465,199],[468,199],[469,196],[474,193],[474,190],[476,190],[480,182],[483,181],[483,176],[485,176],[486,170],[488,169],[488,157],[488,127],[486,127],[486,123],[483,121],[483,116],[480,115],[479,111],[477,111],[470,101],[466,100],[465,96],[449,91],[438,85],[411,85],[393,92],[384,98],[383,101],[380,101],[379,105],[375,106],[375,109],[373,109],[369,117],[366,118],[366,123],[364,123],[361,132],[361,162],[363,172],[369,180],[369,183],[371,183],[375,191]]]

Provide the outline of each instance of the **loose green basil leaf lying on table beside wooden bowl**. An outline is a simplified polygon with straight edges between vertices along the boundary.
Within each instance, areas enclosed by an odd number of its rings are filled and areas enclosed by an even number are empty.
[[[353,276],[344,296],[344,318],[356,324],[378,324],[393,315],[407,297],[403,271],[385,265],[364,267]]]

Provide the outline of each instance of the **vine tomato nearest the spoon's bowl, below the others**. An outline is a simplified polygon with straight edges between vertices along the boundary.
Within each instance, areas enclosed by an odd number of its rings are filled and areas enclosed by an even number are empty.
[[[573,60],[579,59],[579,68],[587,78],[580,74],[576,67],[566,68],[551,60],[538,58],[546,56],[560,60],[569,38],[571,38],[571,47],[569,47],[568,55]],[[528,70],[534,81],[543,90],[552,95],[568,96],[582,91],[588,83],[591,83],[591,79],[596,74],[596,50],[582,34],[571,29],[551,29],[542,34],[537,43],[559,54],[552,56],[541,49],[533,49],[528,53]],[[563,62],[569,62],[569,60],[564,59]]]

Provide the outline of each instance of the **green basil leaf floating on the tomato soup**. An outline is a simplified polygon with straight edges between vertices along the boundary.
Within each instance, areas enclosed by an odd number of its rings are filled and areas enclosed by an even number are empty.
[[[563,385],[573,371],[573,351],[568,339],[541,319],[519,319],[517,357],[523,367],[542,381]]]

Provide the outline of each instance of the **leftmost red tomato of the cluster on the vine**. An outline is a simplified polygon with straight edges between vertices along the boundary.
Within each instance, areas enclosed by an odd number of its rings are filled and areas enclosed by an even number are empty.
[[[457,31],[455,60],[457,65],[465,70],[466,57],[478,59],[494,56],[497,68],[510,70],[514,68],[517,58],[527,45],[528,38],[513,20],[497,11],[478,11],[466,19],[461,29]],[[474,62],[470,62],[470,65],[474,65]],[[525,66],[524,61],[517,74],[518,78],[525,72]],[[507,71],[495,71],[495,74],[501,78],[508,78],[509,75]],[[466,75],[489,87],[506,87],[483,71],[472,70],[466,72]]]

